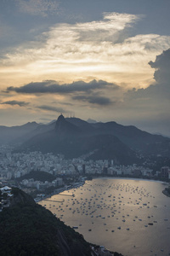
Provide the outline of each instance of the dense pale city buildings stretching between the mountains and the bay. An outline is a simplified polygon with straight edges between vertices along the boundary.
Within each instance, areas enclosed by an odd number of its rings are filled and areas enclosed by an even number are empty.
[[[48,180],[40,181],[34,177],[26,178],[26,175],[31,172],[46,172],[53,176],[54,180],[49,182]],[[21,188],[28,188],[26,192],[32,191],[29,189],[36,189],[37,192],[41,192],[50,187],[54,189],[66,188],[68,184],[74,186],[79,182],[81,183],[84,180],[82,177],[86,176],[143,177],[168,181],[170,168],[162,166],[160,170],[153,173],[149,167],[137,166],[136,164],[117,166],[113,160],[84,160],[83,156],[66,160],[63,154],[13,153],[10,146],[3,145],[0,148],[1,183],[17,184]],[[17,180],[18,182],[14,183]]]

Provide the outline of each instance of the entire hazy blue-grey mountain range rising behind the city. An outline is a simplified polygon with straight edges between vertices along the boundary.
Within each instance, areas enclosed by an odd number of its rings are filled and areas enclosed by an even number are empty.
[[[70,159],[89,154],[87,157],[90,159],[115,160],[117,164],[125,165],[139,163],[139,155],[170,155],[170,138],[141,131],[133,125],[119,125],[114,121],[88,123],[77,118],[65,119],[60,115],[57,121],[36,125],[35,129],[31,126],[29,131],[22,133],[22,137],[15,138],[15,142],[22,143],[20,148],[15,149],[19,152],[61,153]]]

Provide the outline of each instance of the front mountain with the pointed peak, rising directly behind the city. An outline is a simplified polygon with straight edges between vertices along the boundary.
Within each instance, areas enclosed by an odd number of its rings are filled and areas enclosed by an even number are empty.
[[[59,116],[54,130],[32,137],[18,150],[61,153],[68,159],[94,152],[91,159],[110,159],[123,164],[137,160],[136,153],[117,137],[98,134],[87,122],[75,118],[65,119],[63,115]]]

